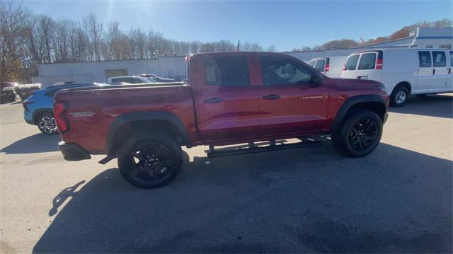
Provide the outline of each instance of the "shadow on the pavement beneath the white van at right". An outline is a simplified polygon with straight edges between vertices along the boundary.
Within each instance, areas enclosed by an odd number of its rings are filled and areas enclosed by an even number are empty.
[[[431,117],[453,118],[453,96],[428,95],[422,98],[411,96],[401,108],[389,108],[390,112]]]

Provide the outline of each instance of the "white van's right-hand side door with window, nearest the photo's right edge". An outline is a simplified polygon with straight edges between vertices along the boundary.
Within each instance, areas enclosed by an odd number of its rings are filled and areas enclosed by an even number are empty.
[[[430,93],[452,91],[452,76],[447,67],[447,54],[445,51],[432,51],[432,82]]]

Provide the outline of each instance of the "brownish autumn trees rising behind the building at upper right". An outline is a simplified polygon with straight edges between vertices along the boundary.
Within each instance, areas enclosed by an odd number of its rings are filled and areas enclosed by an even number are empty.
[[[341,39],[341,40],[331,40],[326,42],[323,45],[318,45],[314,47],[295,47],[292,51],[308,51],[308,50],[339,50],[339,49],[348,49],[351,47],[365,46],[377,42],[383,42],[385,40],[395,40],[403,37],[408,37],[411,33],[415,32],[416,28],[448,28],[453,26],[453,21],[449,18],[444,18],[440,21],[433,22],[420,22],[414,23],[412,25],[406,25],[400,30],[392,33],[389,36],[379,36],[376,39],[369,39],[364,41],[350,40],[350,39]]]

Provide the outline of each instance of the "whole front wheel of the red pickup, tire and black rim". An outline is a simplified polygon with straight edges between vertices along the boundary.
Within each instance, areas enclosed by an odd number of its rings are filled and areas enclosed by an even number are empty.
[[[376,149],[382,137],[382,120],[374,112],[353,112],[332,134],[333,146],[342,154],[362,157]]]

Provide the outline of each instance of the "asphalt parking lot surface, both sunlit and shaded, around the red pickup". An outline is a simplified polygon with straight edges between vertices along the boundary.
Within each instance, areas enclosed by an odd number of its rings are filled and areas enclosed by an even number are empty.
[[[391,108],[365,158],[323,146],[207,159],[166,187],[66,162],[0,105],[0,252],[452,252],[453,95]]]

